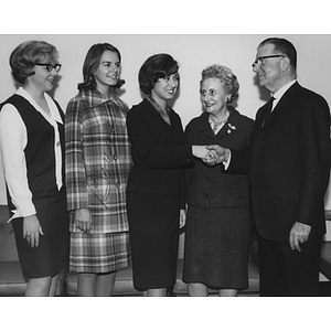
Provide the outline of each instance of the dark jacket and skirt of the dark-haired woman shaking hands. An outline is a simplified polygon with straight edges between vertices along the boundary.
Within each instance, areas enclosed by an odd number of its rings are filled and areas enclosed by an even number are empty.
[[[180,117],[168,125],[147,99],[127,116],[134,166],[128,180],[128,220],[134,285],[138,290],[175,281],[180,209],[184,209],[183,166],[193,161]]]

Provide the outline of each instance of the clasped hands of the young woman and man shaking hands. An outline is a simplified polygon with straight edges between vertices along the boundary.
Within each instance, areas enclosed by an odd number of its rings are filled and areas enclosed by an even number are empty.
[[[229,158],[229,150],[218,145],[210,146],[193,146],[193,156],[202,159],[204,163],[212,167],[222,162],[227,162]]]

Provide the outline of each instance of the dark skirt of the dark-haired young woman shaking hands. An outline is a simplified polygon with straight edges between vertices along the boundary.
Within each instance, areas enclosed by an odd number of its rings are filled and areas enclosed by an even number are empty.
[[[128,192],[134,286],[138,290],[174,285],[180,196]]]

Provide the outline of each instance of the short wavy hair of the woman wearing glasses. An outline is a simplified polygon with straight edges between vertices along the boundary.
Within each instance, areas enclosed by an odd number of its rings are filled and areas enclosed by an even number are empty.
[[[18,45],[9,58],[15,81],[19,84],[24,84],[28,77],[35,74],[34,63],[42,62],[46,57],[50,57],[52,63],[56,63],[58,58],[56,47],[47,42],[31,40]]]

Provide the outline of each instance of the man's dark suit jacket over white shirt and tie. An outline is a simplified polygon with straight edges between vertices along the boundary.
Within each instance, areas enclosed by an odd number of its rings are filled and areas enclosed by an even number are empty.
[[[249,148],[232,151],[228,171],[248,171],[258,233],[288,241],[295,222],[325,233],[323,196],[330,177],[330,110],[318,94],[295,83],[261,128],[266,106],[256,115]]]

